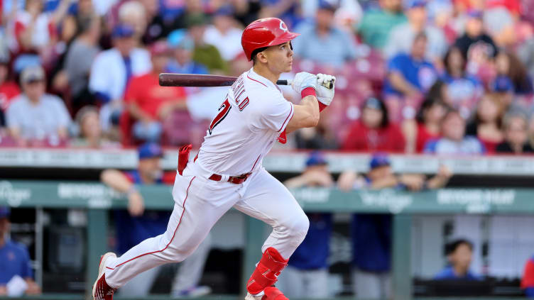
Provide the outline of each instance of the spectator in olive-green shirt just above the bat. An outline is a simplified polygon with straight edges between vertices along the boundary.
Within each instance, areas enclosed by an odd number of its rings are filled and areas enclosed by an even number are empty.
[[[204,40],[207,22],[208,19],[204,13],[194,13],[185,17],[187,30],[195,45],[193,60],[205,65],[212,74],[227,74],[229,67],[219,50]]]

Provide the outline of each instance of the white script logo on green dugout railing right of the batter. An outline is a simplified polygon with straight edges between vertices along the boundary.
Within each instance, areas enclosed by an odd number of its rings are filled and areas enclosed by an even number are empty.
[[[410,194],[398,194],[392,189],[379,192],[361,191],[360,196],[364,206],[386,207],[391,213],[401,213],[413,202]]]

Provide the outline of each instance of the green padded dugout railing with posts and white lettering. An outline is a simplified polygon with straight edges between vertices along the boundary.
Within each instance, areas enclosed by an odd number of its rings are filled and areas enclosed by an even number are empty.
[[[140,187],[146,199],[147,209],[170,210],[173,208],[171,188],[167,186]],[[351,191],[337,189],[305,188],[293,190],[295,198],[308,212],[338,213],[392,213],[393,214],[393,294],[396,300],[413,298],[413,282],[410,268],[410,235],[414,214],[456,214],[475,213],[483,215],[534,213],[534,188],[524,189],[440,189],[435,191],[399,192]],[[77,208],[87,211],[87,288],[97,274],[99,255],[107,250],[102,243],[103,233],[108,230],[110,209],[125,208],[123,194],[97,182],[53,182],[53,181],[0,181],[0,205],[13,208],[66,209]],[[247,276],[258,261],[258,249],[264,240],[261,233],[265,225],[253,218],[245,219],[245,241],[243,272]],[[42,257],[40,257],[42,259]],[[243,278],[242,280],[246,280]],[[43,294],[21,299],[89,299],[88,294]],[[0,297],[0,299],[2,299]],[[13,299],[13,298],[9,298]],[[119,298],[116,299],[126,299]],[[170,299],[169,296],[153,295],[145,299]],[[209,296],[201,299],[242,299],[239,296]],[[340,297],[339,299],[354,299]],[[435,298],[418,298],[435,299]],[[454,298],[459,299],[459,298]],[[462,298],[463,299],[463,298]],[[467,298],[465,298],[467,299]],[[493,297],[484,297],[493,299]],[[506,299],[496,297],[495,299]],[[513,298],[518,299],[518,298]],[[293,300],[293,299],[292,299]]]

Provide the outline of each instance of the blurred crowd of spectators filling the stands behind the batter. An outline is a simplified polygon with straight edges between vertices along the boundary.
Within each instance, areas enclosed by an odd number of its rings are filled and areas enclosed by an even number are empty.
[[[224,89],[158,74],[236,76],[241,32],[282,18],[293,72],[334,74],[317,128],[285,147],[527,153],[534,13],[526,0],[3,0],[0,146],[199,146]],[[286,75],[291,77],[291,74]],[[284,89],[290,101],[298,95]]]

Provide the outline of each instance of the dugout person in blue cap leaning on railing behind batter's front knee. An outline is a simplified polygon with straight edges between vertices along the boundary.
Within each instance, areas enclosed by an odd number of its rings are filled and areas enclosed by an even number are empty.
[[[303,174],[284,182],[288,189],[325,187],[334,185],[327,161],[321,152],[311,152]],[[307,213],[310,228],[303,243],[291,255],[288,267],[279,278],[280,286],[288,297],[322,298],[328,293],[328,257],[332,235],[332,214]]]

